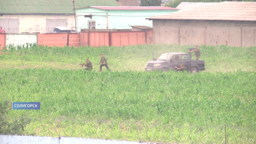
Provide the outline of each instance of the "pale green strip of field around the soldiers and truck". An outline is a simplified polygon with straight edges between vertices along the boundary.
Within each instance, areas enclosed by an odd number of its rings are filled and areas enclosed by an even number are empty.
[[[78,69],[77,63],[85,59],[98,70],[100,54],[103,54],[114,71],[144,70],[145,64],[152,60],[153,53],[160,56],[169,52],[188,52],[191,46],[180,45],[138,45],[123,47],[49,47],[33,46],[20,51],[2,51],[0,67],[4,68],[58,68]],[[247,71],[256,70],[255,47],[199,46],[201,60],[205,60],[206,71]],[[193,59],[195,55],[193,53]]]

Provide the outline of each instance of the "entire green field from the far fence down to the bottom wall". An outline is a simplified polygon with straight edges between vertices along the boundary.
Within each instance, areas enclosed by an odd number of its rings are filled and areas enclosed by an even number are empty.
[[[31,47],[0,52],[0,100],[41,102],[23,135],[158,143],[246,143],[256,133],[256,47],[199,46],[206,70],[145,72],[191,46]],[[112,72],[99,72],[103,54]],[[93,71],[77,64],[89,58]],[[195,57],[193,57],[195,58]],[[11,104],[10,104],[11,105]],[[25,123],[25,122],[24,122]]]

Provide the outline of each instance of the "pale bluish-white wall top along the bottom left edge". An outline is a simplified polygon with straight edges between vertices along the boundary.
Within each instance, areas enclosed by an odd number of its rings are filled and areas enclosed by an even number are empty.
[[[0,144],[153,144],[89,138],[0,135]],[[155,143],[154,143],[155,144]]]

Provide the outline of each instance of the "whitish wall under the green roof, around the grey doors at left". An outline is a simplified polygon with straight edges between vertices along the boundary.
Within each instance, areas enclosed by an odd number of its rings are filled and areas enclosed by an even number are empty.
[[[19,30],[11,27],[5,28],[1,24],[1,19],[19,19]],[[23,32],[46,32],[46,19],[67,19],[67,27],[75,27],[74,15],[2,15],[0,16],[0,25],[6,33]]]

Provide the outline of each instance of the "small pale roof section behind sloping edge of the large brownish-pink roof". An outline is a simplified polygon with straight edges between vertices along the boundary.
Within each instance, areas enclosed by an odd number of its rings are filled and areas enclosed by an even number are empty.
[[[176,8],[180,10],[188,10],[188,9],[193,9],[200,6],[216,4],[216,3],[217,2],[181,2]]]

